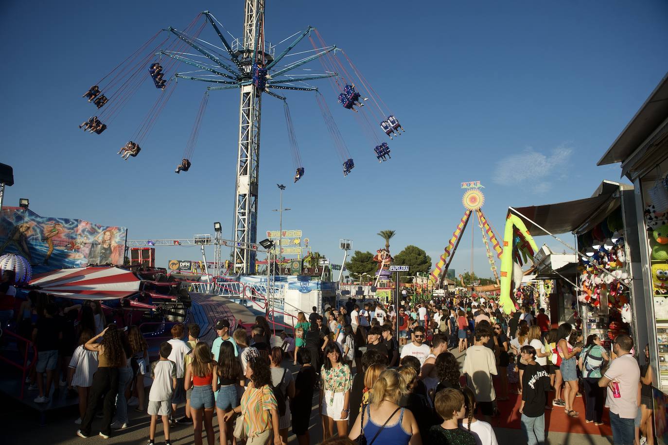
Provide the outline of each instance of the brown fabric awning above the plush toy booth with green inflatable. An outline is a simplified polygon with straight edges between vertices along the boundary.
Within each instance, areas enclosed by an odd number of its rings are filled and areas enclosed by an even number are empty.
[[[627,185],[603,181],[593,195],[585,199],[530,207],[512,207],[512,209],[528,219],[525,219],[526,228],[532,236],[550,235],[547,232],[566,234],[573,232],[588,221],[591,225],[603,221],[619,205],[619,197],[615,197],[615,193],[620,187],[627,187]],[[598,221],[597,218],[592,219],[592,215],[599,215]]]

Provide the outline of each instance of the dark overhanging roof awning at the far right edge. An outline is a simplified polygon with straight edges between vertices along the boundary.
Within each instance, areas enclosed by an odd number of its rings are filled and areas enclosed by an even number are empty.
[[[626,161],[668,117],[668,75],[652,91],[597,165]]]

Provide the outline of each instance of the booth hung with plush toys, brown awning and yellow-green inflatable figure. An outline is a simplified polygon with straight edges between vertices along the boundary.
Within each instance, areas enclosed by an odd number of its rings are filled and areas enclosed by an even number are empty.
[[[508,312],[508,306],[516,304],[508,277],[515,274],[518,262],[526,263],[531,258],[538,278],[554,278],[549,302],[552,323],[580,319],[585,336],[600,334],[607,348],[621,332],[628,332],[638,344],[644,344],[646,326],[641,317],[633,317],[645,314],[641,281],[633,280],[641,276],[633,209],[633,187],[612,181],[603,181],[585,199],[510,207],[502,257],[504,310]],[[560,234],[572,234],[573,238],[564,241],[558,237]],[[545,252],[538,250],[532,240],[533,236],[546,235],[563,244],[575,258],[571,257],[568,264],[554,266],[550,258],[548,264]],[[546,272],[547,267],[551,273]],[[633,298],[635,294],[641,297]]]

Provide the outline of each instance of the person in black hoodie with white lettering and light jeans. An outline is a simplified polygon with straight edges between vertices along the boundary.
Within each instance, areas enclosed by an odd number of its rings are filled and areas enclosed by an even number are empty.
[[[528,362],[522,375],[522,432],[528,445],[544,444],[545,404],[550,390],[550,374],[536,363],[536,348],[522,346],[520,354]]]

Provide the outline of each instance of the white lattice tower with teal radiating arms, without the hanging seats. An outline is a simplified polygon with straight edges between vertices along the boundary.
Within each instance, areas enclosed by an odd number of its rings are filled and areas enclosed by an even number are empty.
[[[334,77],[337,73],[330,71],[325,71],[324,74],[319,75],[289,75],[286,73],[331,51],[335,52],[338,48],[336,46],[320,48],[314,50],[313,55],[279,67],[277,63],[297,43],[309,35],[314,28],[309,26],[304,31],[295,34],[297,35],[295,40],[275,57],[274,47],[269,44],[265,45],[265,0],[244,0],[244,5],[243,37],[234,40],[232,45],[228,43],[218,25],[216,25],[218,21],[215,17],[208,11],[202,13],[220,38],[224,51],[226,51],[225,57],[220,57],[220,53],[213,49],[222,48],[186,35],[172,27],[168,28],[170,32],[204,55],[207,60],[192,59],[185,57],[188,54],[174,51],[163,50],[160,53],[182,63],[198,67],[200,71],[207,72],[204,77],[192,77],[186,75],[186,73],[176,73],[176,77],[224,84],[224,86],[208,87],[209,90],[240,89],[238,155],[236,183],[234,185],[234,229],[232,232],[234,255],[232,260],[234,272],[252,274],[255,271],[256,252],[254,249],[248,249],[247,246],[253,246],[257,243],[262,93],[264,91],[268,95],[285,101],[285,97],[277,95],[269,89],[317,91],[316,87],[297,87],[294,83]],[[267,77],[266,86],[262,90],[253,82],[253,66],[255,64],[261,64],[267,69],[267,73],[271,74],[271,77]]]

